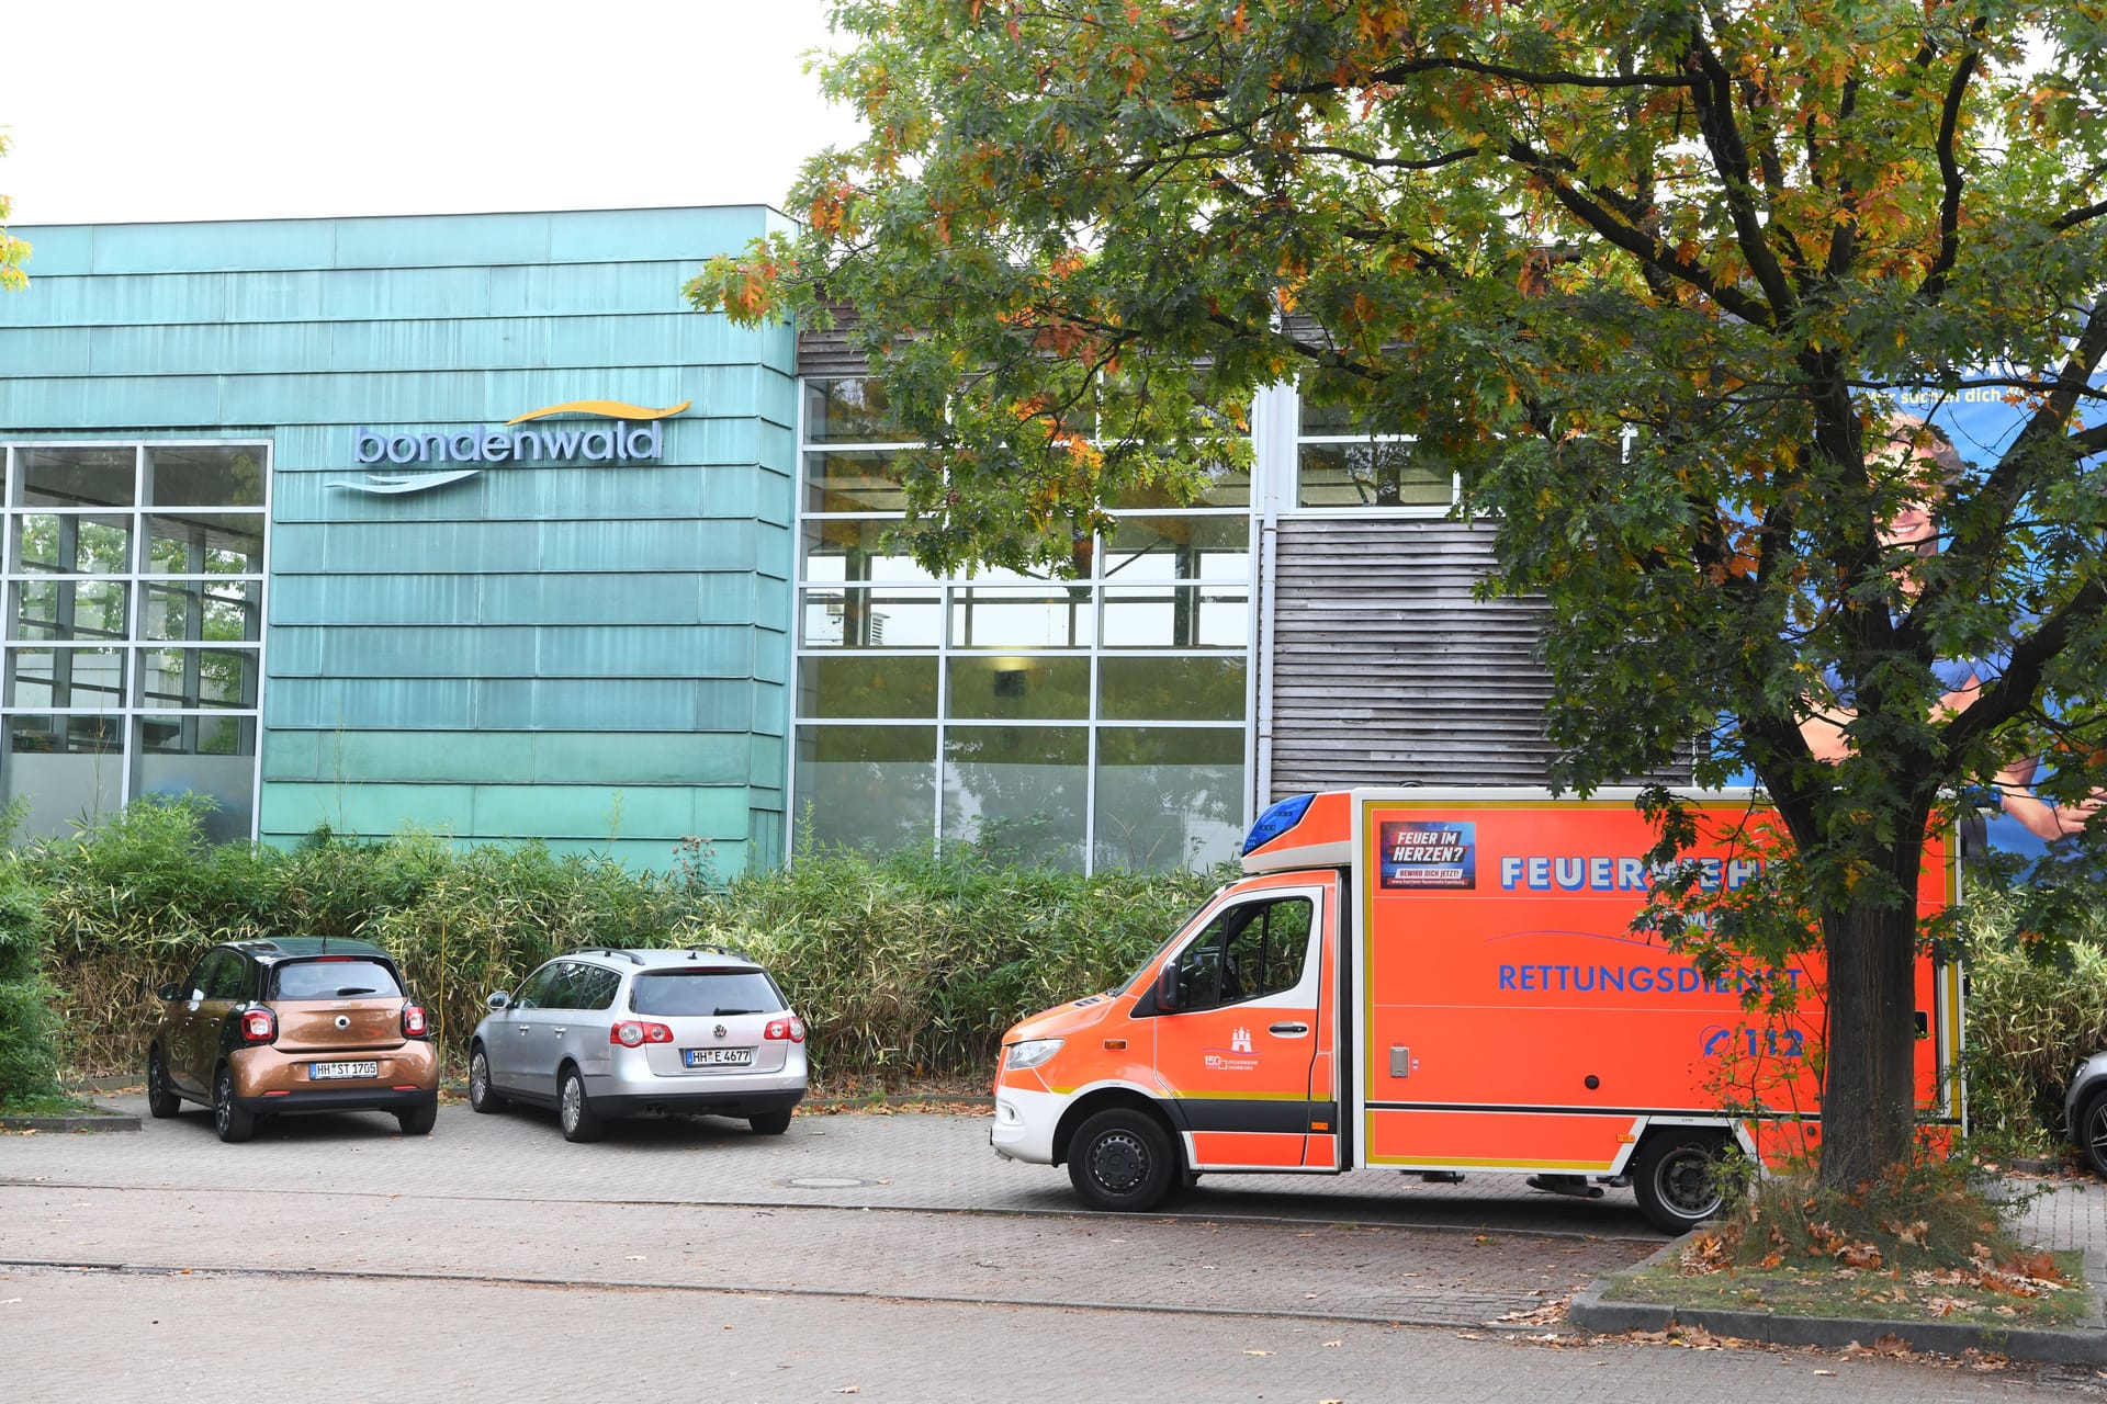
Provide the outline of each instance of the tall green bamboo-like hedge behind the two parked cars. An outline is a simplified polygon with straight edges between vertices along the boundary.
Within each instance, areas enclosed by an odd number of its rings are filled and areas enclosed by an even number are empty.
[[[807,850],[794,867],[712,886],[668,871],[457,846],[407,831],[297,850],[209,844],[194,800],[141,802],[61,842],[17,848],[48,943],[76,1074],[137,1069],[154,987],[217,941],[354,937],[386,947],[455,1065],[485,998],[579,945],[716,943],[750,951],[813,1029],[836,1084],[984,1078],[1018,1017],[1123,979],[1212,890],[1199,876],[1054,874],[986,848]]]

